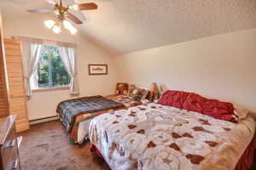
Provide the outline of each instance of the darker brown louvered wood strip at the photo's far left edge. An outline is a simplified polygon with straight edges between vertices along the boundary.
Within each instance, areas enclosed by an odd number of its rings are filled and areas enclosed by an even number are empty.
[[[2,17],[0,14],[0,117],[9,116],[8,80],[6,80],[6,63],[3,45]]]

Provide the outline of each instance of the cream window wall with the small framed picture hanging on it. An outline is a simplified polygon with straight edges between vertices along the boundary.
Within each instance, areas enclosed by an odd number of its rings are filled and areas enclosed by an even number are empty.
[[[70,35],[69,32],[64,31],[57,35],[49,31],[44,26],[44,20],[49,20],[49,16],[39,17],[35,14],[32,17],[3,19],[4,37],[16,35],[77,43],[80,96],[113,94],[117,80],[113,57],[96,44],[87,41],[80,33]],[[108,76],[88,76],[89,63],[108,64]],[[29,120],[55,116],[56,105],[68,98],[70,98],[68,91],[33,94],[32,99],[28,101]]]

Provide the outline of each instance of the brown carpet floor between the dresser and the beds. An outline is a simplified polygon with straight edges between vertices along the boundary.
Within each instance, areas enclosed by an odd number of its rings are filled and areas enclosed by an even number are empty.
[[[90,143],[71,144],[61,122],[34,125],[19,133],[22,170],[103,170],[108,165],[90,152]]]

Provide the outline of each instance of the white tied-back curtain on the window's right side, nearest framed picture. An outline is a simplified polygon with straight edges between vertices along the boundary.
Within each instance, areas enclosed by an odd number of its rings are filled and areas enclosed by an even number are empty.
[[[67,72],[72,77],[70,82],[70,94],[79,95],[78,71],[76,64],[75,47],[66,46],[58,43],[61,59],[67,69]]]

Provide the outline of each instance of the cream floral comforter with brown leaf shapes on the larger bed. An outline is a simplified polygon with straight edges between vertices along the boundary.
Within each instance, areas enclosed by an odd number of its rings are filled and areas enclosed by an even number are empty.
[[[96,116],[90,142],[113,170],[228,170],[236,167],[254,128],[249,116],[233,123],[152,103]]]

